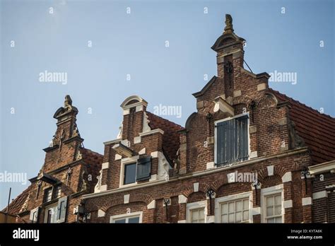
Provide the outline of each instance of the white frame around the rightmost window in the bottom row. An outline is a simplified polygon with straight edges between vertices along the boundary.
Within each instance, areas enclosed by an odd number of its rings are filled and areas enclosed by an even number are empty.
[[[266,199],[265,197],[271,196],[274,194],[279,194],[279,193],[281,194],[281,223],[284,223],[285,209],[284,209],[283,184],[261,189],[261,223],[267,223],[266,222]]]

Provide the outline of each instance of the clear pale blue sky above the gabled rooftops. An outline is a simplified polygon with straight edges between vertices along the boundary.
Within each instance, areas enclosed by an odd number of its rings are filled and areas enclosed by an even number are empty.
[[[37,175],[66,94],[78,107],[84,145],[100,153],[103,141],[116,138],[119,105],[129,95],[146,99],[152,112],[181,106],[182,117],[166,118],[184,125],[204,74],[216,75],[210,47],[225,13],[247,40],[245,61],[254,73],[296,73],[295,85],[269,84],[334,117],[334,1],[1,0],[0,172]],[[67,73],[67,83],[41,83],[45,70]],[[28,183],[0,183],[0,206],[9,187],[13,198]]]

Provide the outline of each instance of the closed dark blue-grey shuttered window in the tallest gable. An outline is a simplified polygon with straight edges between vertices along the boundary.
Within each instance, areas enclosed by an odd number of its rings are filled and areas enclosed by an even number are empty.
[[[216,165],[229,165],[249,157],[248,115],[216,122]]]

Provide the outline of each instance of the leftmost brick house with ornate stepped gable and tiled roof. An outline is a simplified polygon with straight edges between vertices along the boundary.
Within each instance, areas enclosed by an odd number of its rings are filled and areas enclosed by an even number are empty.
[[[37,177],[8,208],[20,223],[74,223],[83,194],[94,191],[102,155],[83,147],[76,125],[78,110],[66,95],[64,107],[54,113],[57,130],[44,149],[45,163]],[[3,211],[6,211],[4,209]]]

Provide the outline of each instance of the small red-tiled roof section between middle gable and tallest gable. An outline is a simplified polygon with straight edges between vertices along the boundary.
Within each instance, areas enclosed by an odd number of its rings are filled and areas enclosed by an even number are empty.
[[[177,157],[177,151],[180,148],[180,134],[177,131],[184,127],[167,119],[163,119],[151,112],[146,112],[148,115],[149,127],[151,129],[162,129],[163,134],[163,151],[167,154],[167,158],[174,160]]]

